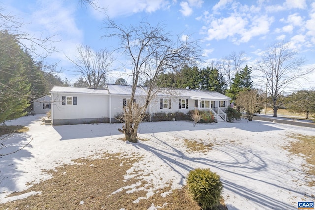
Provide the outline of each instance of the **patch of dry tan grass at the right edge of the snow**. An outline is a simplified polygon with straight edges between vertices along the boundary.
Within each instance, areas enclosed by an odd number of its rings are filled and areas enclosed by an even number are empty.
[[[301,134],[292,134],[289,137],[298,139],[299,141],[291,142],[289,149],[290,152],[296,155],[303,155],[306,158],[308,165],[306,176],[310,178],[309,186],[315,186],[315,136],[306,136]]]

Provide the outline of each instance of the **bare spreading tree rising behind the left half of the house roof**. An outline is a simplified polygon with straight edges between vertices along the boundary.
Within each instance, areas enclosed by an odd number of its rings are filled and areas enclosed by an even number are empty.
[[[67,57],[74,64],[75,71],[82,76],[89,88],[103,88],[114,61],[111,54],[106,49],[95,52],[87,45],[77,46],[77,50],[78,56],[75,60]]]

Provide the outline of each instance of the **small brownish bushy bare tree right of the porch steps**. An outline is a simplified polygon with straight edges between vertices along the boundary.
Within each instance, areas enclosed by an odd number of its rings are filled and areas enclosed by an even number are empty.
[[[258,94],[258,90],[251,89],[240,92],[235,103],[239,108],[245,109],[247,119],[252,121],[254,114],[263,107],[263,101],[264,99]]]

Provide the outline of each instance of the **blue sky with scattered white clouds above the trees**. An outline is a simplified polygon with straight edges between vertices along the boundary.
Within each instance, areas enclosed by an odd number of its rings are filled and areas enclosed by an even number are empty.
[[[315,2],[313,0],[95,0],[106,7],[106,15],[118,24],[140,21],[156,25],[181,38],[197,40],[204,66],[233,51],[244,51],[247,64],[254,65],[259,53],[275,41],[291,42],[306,58],[305,67],[315,66]],[[24,30],[37,36],[55,35],[59,52],[47,62],[59,62],[62,76],[75,80],[66,55],[74,57],[76,46],[94,50],[118,46],[100,37],[106,16],[82,6],[76,0],[0,0],[2,13],[15,15],[26,23]],[[122,60],[120,60],[122,61]],[[117,63],[117,68],[119,69]],[[200,66],[203,67],[203,66]],[[123,75],[112,75],[109,82]],[[314,87],[315,74],[301,88]]]

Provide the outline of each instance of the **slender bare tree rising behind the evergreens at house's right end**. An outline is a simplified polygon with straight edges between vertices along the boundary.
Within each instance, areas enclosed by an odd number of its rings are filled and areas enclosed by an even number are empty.
[[[231,88],[232,78],[241,69],[244,62],[246,62],[245,52],[240,51],[238,53],[232,52],[230,55],[219,60],[218,66],[223,74],[227,78],[229,88]]]

